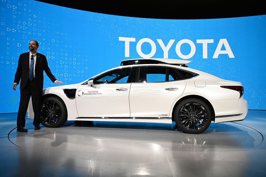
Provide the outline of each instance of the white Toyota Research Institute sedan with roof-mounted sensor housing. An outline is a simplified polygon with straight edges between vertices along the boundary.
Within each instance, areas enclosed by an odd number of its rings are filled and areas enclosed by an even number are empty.
[[[240,121],[248,111],[240,82],[188,68],[191,61],[141,58],[81,83],[43,89],[41,121],[60,127],[67,120],[153,122],[176,125],[184,133],[211,124]],[[33,119],[32,104],[28,117]]]

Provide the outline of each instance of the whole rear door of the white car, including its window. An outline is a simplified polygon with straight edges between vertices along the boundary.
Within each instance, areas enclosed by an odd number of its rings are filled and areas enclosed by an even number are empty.
[[[175,68],[139,66],[129,93],[130,117],[171,117],[170,108],[185,86]]]

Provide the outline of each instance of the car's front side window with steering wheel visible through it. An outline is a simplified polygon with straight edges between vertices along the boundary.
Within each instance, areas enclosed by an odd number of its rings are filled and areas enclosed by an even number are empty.
[[[93,84],[127,83],[131,68],[122,68],[109,71],[93,79]]]

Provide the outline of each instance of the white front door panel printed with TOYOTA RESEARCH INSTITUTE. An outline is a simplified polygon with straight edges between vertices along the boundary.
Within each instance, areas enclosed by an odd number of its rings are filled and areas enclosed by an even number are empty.
[[[81,85],[76,91],[79,117],[130,117],[131,83]]]

